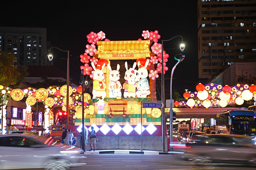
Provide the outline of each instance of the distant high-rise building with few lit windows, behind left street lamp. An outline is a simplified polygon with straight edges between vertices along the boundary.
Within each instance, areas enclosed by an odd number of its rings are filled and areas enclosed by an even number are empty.
[[[0,27],[0,50],[20,65],[52,65],[46,56],[46,28]]]

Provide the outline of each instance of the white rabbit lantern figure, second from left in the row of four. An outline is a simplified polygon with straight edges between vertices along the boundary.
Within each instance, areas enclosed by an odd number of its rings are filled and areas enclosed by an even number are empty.
[[[119,79],[120,79],[120,74],[119,74],[120,65],[119,64],[117,65],[117,70],[112,70],[111,66],[109,64],[107,66],[108,66],[108,69],[110,71],[110,73],[109,73],[109,84],[108,84],[109,98],[115,98],[115,97],[117,97],[117,96],[113,95],[113,90],[116,89],[115,86],[118,85],[118,89],[120,91],[122,89],[122,85],[119,81]],[[115,92],[117,92],[117,90],[115,90]]]

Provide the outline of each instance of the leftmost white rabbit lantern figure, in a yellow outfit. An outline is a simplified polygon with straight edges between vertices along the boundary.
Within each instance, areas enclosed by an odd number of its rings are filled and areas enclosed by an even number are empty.
[[[104,79],[103,68],[105,63],[100,67],[95,67],[94,63],[91,63],[93,69],[93,98],[105,98],[106,97],[106,84],[102,81]]]

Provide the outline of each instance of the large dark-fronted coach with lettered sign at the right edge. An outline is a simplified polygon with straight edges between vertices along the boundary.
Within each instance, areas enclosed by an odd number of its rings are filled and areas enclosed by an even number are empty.
[[[256,135],[256,113],[250,110],[226,110],[216,116],[216,133]]]

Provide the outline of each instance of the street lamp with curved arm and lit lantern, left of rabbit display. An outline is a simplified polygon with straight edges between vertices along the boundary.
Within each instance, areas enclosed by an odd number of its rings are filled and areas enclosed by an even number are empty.
[[[57,47],[51,47],[50,48],[50,51],[51,51],[51,49],[52,48],[57,48]],[[58,50],[61,50],[61,49],[59,49],[59,48],[57,48]],[[61,50],[61,51],[63,51],[63,52],[68,52],[68,58],[67,58],[67,107],[66,107],[66,111],[67,111],[67,123],[66,123],[66,128],[68,128],[68,124],[69,124],[69,51],[64,51],[64,50]],[[48,59],[50,60],[50,61],[52,61],[52,59],[53,59],[53,55],[52,55],[52,53],[51,52],[49,52],[48,54]]]

